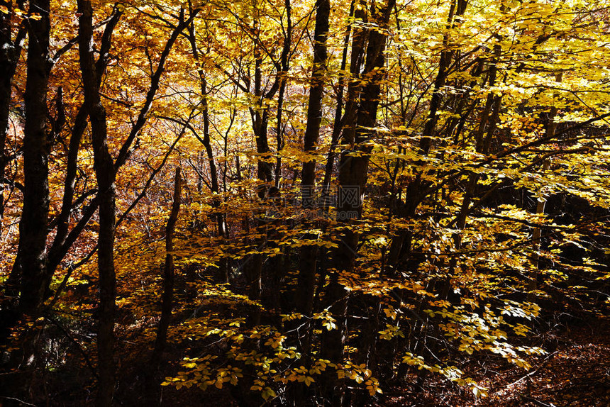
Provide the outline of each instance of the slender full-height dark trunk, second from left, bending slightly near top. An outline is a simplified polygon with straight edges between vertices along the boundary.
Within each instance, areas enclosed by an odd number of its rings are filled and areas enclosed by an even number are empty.
[[[106,109],[99,96],[99,79],[93,50],[93,9],[88,0],[78,1],[79,56],[84,88],[84,106],[91,121],[94,169],[99,198],[99,328],[97,336],[99,385],[96,404],[111,406],[114,383],[114,318],[116,276],[114,272],[115,170],[107,143]]]

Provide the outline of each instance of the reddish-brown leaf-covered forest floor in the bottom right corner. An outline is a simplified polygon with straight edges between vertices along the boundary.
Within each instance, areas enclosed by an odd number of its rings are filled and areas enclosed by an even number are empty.
[[[569,327],[569,328],[566,328]],[[482,357],[465,367],[489,389],[475,398],[436,375],[421,387],[393,389],[376,407],[608,407],[610,406],[610,323],[607,320],[565,324],[540,335],[547,355],[531,359],[526,371],[503,359]]]

